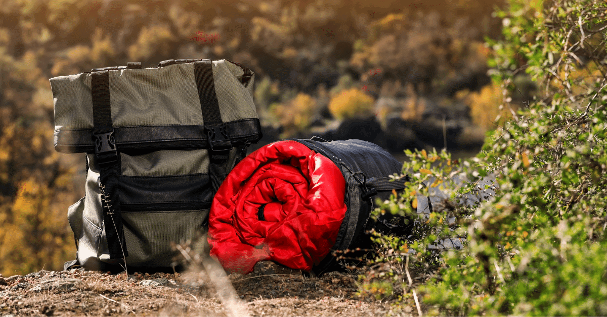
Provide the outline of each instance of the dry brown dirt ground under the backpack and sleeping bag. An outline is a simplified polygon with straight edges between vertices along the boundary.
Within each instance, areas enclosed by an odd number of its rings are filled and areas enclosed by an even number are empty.
[[[317,278],[271,262],[258,263],[248,275],[211,272],[111,275],[72,269],[0,277],[0,316],[417,315],[415,306],[361,298],[361,272]]]

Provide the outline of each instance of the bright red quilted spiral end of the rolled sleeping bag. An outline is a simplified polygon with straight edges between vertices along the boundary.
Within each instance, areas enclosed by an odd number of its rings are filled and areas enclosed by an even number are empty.
[[[324,155],[296,141],[266,145],[237,164],[215,195],[211,256],[229,272],[249,273],[266,260],[309,271],[335,243],[344,194],[341,171]]]

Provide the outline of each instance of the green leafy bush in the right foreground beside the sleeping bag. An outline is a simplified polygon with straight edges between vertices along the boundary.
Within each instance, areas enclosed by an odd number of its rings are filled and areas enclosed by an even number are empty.
[[[412,287],[430,314],[605,315],[607,6],[510,0],[497,14],[504,38],[490,41],[490,64],[504,89],[501,108],[512,118],[463,164],[446,153],[408,153],[403,172],[413,170],[414,186],[382,202],[376,213],[415,214],[416,195],[428,195],[421,181],[430,177],[447,198],[416,216],[409,239],[395,245],[378,236],[382,252],[392,256],[375,261],[401,281],[406,299],[411,285],[394,272],[401,258],[415,259],[412,274],[426,279]],[[537,82],[538,95],[513,105],[524,95],[516,77],[522,72]],[[487,175],[496,179],[495,195],[458,204]],[[472,182],[458,185],[458,176]],[[461,238],[464,247],[427,248],[441,238]]]

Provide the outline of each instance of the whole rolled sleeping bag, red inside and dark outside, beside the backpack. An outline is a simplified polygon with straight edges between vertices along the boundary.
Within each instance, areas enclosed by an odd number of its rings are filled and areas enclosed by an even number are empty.
[[[289,139],[259,148],[223,182],[209,215],[211,256],[229,272],[256,262],[327,272],[334,255],[367,248],[367,230],[407,236],[404,222],[370,219],[373,201],[404,189],[391,181],[402,164],[378,145],[357,139]]]

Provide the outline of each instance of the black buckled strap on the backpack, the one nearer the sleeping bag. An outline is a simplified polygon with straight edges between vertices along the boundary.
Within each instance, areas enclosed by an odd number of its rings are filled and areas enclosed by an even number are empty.
[[[226,165],[232,142],[228,136],[228,127],[222,121],[219,111],[215,82],[213,79],[212,61],[194,62],[194,78],[198,88],[198,98],[202,116],[205,120],[205,133],[209,142],[209,175],[213,196],[226,178]]]

